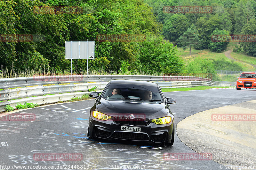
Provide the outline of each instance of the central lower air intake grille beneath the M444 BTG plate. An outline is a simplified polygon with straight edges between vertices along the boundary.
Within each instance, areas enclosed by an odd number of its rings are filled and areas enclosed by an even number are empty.
[[[128,139],[128,140],[149,140],[148,135],[143,133],[133,133],[133,132],[114,132],[111,136],[116,139]]]

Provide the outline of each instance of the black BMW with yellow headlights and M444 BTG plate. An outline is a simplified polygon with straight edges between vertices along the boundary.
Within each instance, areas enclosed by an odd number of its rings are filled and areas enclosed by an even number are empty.
[[[111,80],[90,110],[87,137],[173,145],[174,120],[169,104],[156,83]]]

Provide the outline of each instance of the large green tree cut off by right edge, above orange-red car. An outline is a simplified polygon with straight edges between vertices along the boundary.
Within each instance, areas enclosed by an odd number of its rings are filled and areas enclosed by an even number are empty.
[[[256,57],[256,42],[255,42],[255,34],[256,34],[256,20],[255,18],[251,19],[245,27],[242,29],[242,34],[250,34],[254,35],[254,42],[240,42],[240,46],[244,49],[244,52],[247,55],[251,55]]]

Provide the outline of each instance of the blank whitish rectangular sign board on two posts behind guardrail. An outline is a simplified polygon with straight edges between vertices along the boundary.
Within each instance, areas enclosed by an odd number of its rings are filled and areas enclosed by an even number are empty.
[[[65,41],[66,59],[94,59],[94,41]],[[87,45],[88,42],[88,45]],[[72,47],[71,47],[72,44]],[[88,53],[87,53],[88,51]],[[72,55],[71,55],[72,52]]]

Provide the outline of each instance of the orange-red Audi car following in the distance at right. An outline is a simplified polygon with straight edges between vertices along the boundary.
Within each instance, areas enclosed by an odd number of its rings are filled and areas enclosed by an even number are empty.
[[[240,77],[236,77],[236,90],[241,90],[241,88],[256,89],[256,73],[253,72],[243,72]]]

